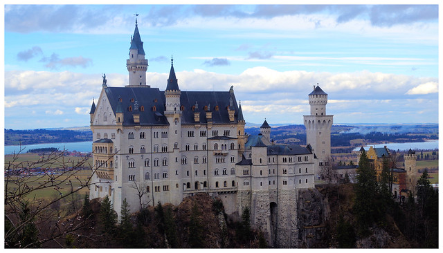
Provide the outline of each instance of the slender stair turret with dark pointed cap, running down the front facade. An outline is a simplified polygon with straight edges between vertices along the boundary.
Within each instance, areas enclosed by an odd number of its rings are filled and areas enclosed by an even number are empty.
[[[168,150],[170,161],[177,161],[180,159],[181,147],[181,104],[179,88],[179,81],[175,76],[174,59],[171,57],[171,69],[169,73],[168,85],[165,90],[165,116],[169,122],[168,129]],[[181,169],[177,162],[170,162],[169,166],[170,185],[181,185],[181,178],[183,177]],[[177,171],[177,173],[176,173]],[[179,205],[181,196],[183,195],[182,187],[172,187],[170,189],[170,203]]]

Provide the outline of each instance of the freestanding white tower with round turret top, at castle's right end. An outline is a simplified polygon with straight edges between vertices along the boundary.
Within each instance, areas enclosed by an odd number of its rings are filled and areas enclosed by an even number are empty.
[[[327,94],[314,85],[314,91],[309,93],[311,115],[304,115],[306,127],[306,142],[310,144],[318,158],[314,165],[314,173],[318,176],[320,166],[331,155],[331,127],[334,115],[326,114]]]

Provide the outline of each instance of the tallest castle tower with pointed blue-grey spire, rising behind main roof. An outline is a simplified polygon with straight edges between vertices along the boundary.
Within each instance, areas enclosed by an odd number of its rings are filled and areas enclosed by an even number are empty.
[[[129,48],[129,59],[126,60],[127,71],[129,72],[128,86],[147,86],[147,66],[145,50],[143,50],[143,41],[141,41],[140,32],[138,32],[136,19],[136,28],[134,35],[131,37],[131,47]]]

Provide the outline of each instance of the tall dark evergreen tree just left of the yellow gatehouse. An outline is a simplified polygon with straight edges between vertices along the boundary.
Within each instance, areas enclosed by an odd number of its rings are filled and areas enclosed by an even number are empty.
[[[354,212],[359,224],[359,233],[366,234],[368,227],[374,222],[376,213],[375,197],[377,181],[375,170],[370,165],[366,152],[362,151],[355,183]]]

